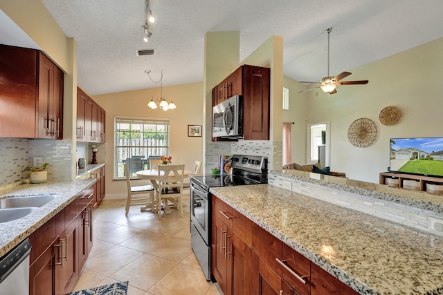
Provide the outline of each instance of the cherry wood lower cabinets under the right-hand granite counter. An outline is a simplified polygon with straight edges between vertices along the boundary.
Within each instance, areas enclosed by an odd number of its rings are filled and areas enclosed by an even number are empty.
[[[358,294],[216,196],[212,239],[212,272],[225,295]]]

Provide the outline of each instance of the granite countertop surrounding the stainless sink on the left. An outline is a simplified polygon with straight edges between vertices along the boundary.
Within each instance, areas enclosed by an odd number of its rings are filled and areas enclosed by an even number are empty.
[[[9,222],[0,223],[0,257],[32,234],[36,229],[60,212],[66,205],[80,196],[82,190],[90,187],[95,179],[21,184],[12,189],[0,191],[0,199],[12,196],[57,195],[54,200],[39,207],[37,211]]]

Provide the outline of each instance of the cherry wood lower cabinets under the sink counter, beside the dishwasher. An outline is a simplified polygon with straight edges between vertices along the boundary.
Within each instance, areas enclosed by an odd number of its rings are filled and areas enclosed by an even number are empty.
[[[29,236],[30,295],[69,294],[92,247],[93,187]],[[84,216],[87,216],[84,218]],[[84,221],[87,222],[83,227]],[[84,238],[86,237],[86,238]],[[84,242],[88,249],[82,251]],[[83,253],[85,256],[81,256]]]

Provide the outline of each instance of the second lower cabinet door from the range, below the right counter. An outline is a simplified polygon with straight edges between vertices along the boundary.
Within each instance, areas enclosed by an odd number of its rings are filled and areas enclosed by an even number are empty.
[[[228,242],[228,293],[227,294],[252,294],[252,250],[244,241],[228,230],[226,237]]]

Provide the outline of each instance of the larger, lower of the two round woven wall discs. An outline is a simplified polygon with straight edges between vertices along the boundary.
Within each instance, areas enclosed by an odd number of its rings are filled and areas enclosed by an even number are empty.
[[[366,118],[355,120],[347,129],[347,138],[354,146],[368,146],[375,137],[377,137],[377,126]]]

